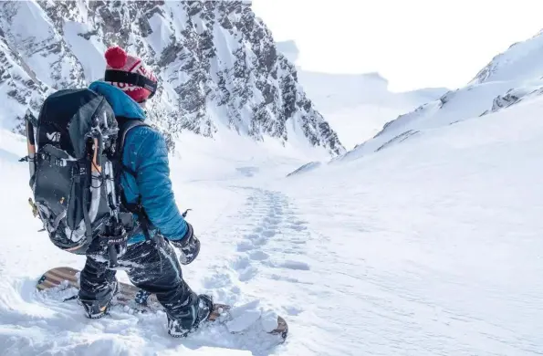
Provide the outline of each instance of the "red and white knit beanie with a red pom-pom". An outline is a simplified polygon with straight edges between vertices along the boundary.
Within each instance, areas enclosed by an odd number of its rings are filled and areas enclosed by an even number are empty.
[[[151,81],[157,81],[156,77],[152,74],[151,69],[146,68],[140,58],[127,55],[127,53],[121,47],[110,47],[104,54],[106,58],[108,69],[122,70],[125,72],[138,73],[143,77],[150,79]],[[110,82],[111,85],[121,89],[127,95],[129,95],[136,102],[141,102],[151,95],[151,91],[144,89],[133,84]]]

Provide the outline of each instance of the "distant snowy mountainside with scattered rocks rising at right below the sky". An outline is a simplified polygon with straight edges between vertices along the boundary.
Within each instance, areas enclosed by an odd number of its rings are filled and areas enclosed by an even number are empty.
[[[388,122],[374,138],[364,141],[339,159],[378,152],[425,131],[473,119],[517,104],[543,92],[543,34],[517,43],[496,56],[465,88]]]

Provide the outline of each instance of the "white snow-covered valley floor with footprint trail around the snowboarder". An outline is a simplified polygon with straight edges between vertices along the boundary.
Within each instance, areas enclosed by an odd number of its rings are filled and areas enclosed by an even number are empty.
[[[34,290],[57,250],[26,203],[22,139],[0,131],[3,355],[529,355],[543,350],[543,99],[425,131],[376,154],[283,178],[306,154],[236,136],[183,136],[178,204],[202,240],[198,292],[283,315],[287,342],[225,330],[170,338],[164,315]],[[226,144],[228,142],[229,144]],[[218,150],[221,148],[221,150]],[[124,278],[124,276],[120,275]]]

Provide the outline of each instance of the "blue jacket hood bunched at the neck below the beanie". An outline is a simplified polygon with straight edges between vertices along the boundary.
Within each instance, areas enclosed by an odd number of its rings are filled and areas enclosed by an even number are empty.
[[[102,95],[110,103],[115,116],[127,119],[145,120],[145,111],[141,106],[126,95],[121,89],[104,81],[95,81],[89,85],[89,89]]]

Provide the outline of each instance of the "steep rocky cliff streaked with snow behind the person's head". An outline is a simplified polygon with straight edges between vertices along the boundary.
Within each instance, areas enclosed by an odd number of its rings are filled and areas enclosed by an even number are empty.
[[[113,44],[159,74],[148,109],[169,135],[228,129],[344,152],[246,1],[2,2],[0,60],[10,66],[0,73],[0,99],[11,108],[0,113],[3,127],[20,126],[26,107],[37,110],[51,89],[99,79]]]

